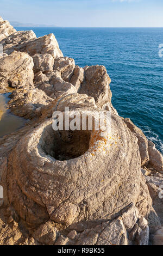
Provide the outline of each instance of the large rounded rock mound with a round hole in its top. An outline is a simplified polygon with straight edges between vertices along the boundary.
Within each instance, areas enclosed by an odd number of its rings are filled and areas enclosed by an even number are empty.
[[[67,102],[72,102],[70,109],[79,106],[78,97],[69,95],[58,101],[55,110],[63,111]],[[83,113],[85,108],[78,109]],[[139,151],[135,136],[120,117],[111,115],[112,134],[107,130],[104,138],[101,130],[58,133],[52,122],[44,121],[29,132],[10,154],[8,198],[27,223],[35,225],[36,219],[41,223],[55,211],[59,215],[64,202],[80,208],[78,217],[70,212],[67,224],[69,218],[73,223],[112,218],[130,202],[136,203],[141,179]]]

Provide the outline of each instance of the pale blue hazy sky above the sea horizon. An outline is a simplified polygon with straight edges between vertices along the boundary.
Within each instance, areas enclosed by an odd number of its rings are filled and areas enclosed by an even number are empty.
[[[0,16],[59,27],[163,27],[163,0],[0,0]]]

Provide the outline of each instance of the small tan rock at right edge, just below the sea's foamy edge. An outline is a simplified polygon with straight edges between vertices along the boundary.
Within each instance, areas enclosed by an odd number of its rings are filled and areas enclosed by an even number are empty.
[[[149,164],[151,164],[151,166],[153,166],[153,168],[158,172],[163,173],[163,156],[155,148],[155,145],[149,144],[148,153],[149,153]]]

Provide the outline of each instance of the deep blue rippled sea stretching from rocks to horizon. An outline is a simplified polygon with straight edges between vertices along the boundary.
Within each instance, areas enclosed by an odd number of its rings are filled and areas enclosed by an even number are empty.
[[[37,36],[54,33],[64,56],[76,64],[104,65],[112,104],[163,153],[163,28],[17,28]]]

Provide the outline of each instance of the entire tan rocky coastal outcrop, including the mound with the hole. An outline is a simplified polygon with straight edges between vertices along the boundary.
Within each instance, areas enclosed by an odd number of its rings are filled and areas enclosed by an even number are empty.
[[[163,220],[162,155],[112,106],[105,67],[80,68],[63,56],[53,34],[7,35],[1,23],[1,93],[14,90],[10,111],[30,119],[0,139],[2,244],[156,244]],[[80,113],[78,129],[55,131],[53,113],[65,121],[65,107]],[[84,118],[95,124],[99,114],[108,129],[102,123],[99,130],[82,129]],[[73,116],[70,121],[77,125]]]

